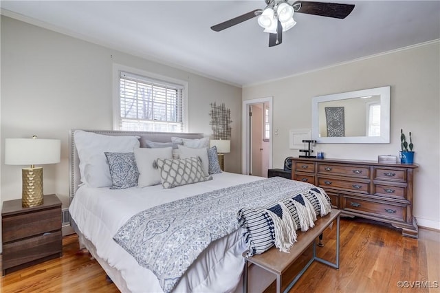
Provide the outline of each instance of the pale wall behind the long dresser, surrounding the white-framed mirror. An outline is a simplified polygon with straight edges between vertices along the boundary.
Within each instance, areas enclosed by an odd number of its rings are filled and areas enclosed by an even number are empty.
[[[397,155],[400,129],[414,142],[414,215],[420,226],[440,229],[440,42],[243,88],[243,100],[274,97],[273,167],[289,155],[289,129],[311,129],[311,98],[344,91],[391,85],[390,144],[318,144],[327,158],[376,160]]]

